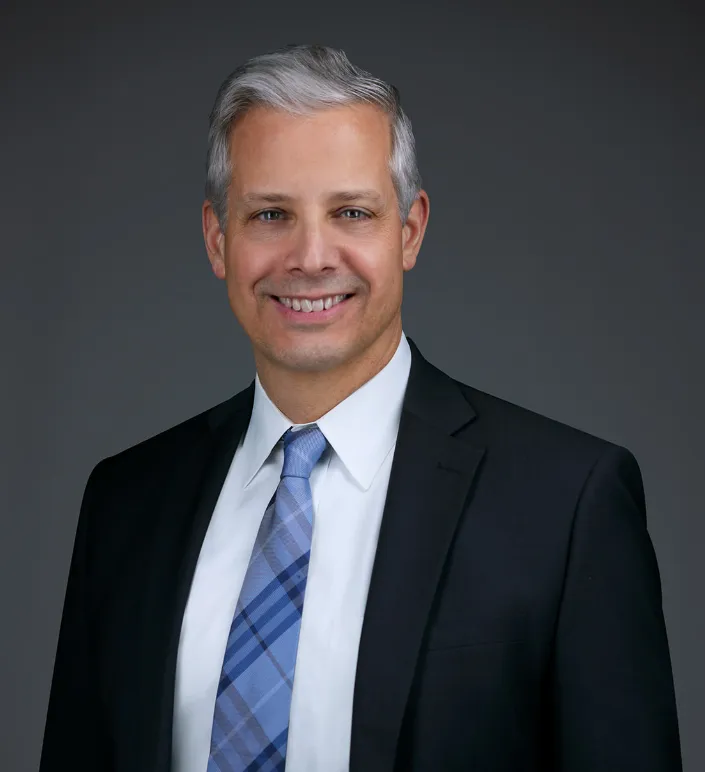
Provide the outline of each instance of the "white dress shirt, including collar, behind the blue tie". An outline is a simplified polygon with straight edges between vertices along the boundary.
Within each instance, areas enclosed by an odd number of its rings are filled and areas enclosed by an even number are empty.
[[[358,645],[411,351],[402,333],[388,364],[316,424],[328,447],[311,473],[313,540],[291,698],[287,772],[347,772]],[[235,605],[284,463],[300,428],[255,377],[252,417],[198,558],[179,641],[173,770],[205,772],[218,680]]]

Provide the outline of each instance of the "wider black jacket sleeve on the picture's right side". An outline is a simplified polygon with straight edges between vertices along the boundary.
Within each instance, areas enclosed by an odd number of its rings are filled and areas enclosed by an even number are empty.
[[[616,445],[595,464],[576,508],[553,679],[557,769],[682,769],[641,472]]]

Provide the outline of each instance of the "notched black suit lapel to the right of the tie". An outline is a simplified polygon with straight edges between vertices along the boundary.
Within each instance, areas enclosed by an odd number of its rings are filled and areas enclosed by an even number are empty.
[[[475,417],[413,341],[412,365],[358,653],[350,772],[394,768],[416,660],[484,448],[453,436]]]

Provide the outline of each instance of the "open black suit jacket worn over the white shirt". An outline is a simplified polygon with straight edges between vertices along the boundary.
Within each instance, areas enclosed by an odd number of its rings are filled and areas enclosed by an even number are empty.
[[[410,343],[351,772],[681,769],[634,457]],[[252,399],[253,384],[92,471],[41,772],[169,770],[181,620]]]

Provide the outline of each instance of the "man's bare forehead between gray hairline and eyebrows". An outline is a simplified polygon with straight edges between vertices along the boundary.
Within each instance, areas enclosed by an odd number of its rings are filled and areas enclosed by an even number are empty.
[[[233,187],[391,184],[390,152],[389,118],[371,105],[309,115],[254,107],[231,132]]]

